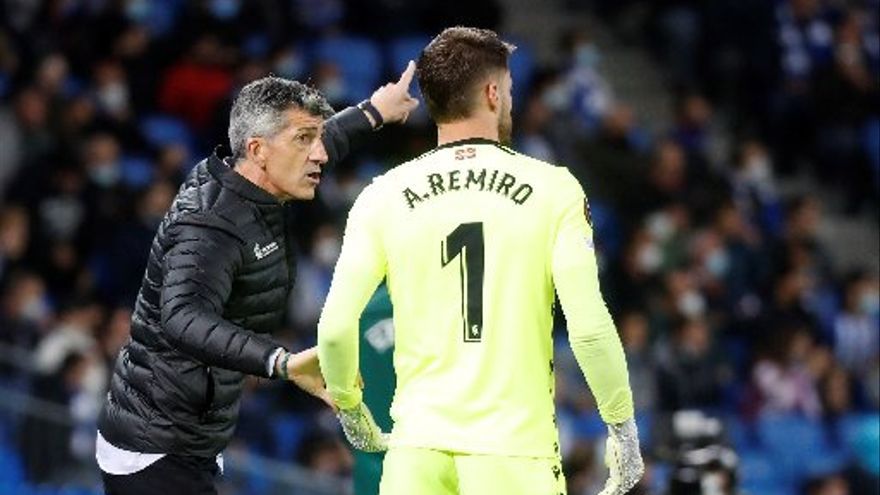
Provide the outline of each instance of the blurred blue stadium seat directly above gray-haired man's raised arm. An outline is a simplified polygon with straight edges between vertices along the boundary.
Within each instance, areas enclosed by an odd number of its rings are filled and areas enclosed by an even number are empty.
[[[345,83],[345,99],[356,102],[369,97],[382,77],[382,53],[367,38],[339,36],[314,45],[316,63],[329,62],[339,68]]]

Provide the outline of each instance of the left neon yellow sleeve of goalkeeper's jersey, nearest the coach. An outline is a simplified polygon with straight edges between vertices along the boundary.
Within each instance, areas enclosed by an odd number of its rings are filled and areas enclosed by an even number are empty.
[[[362,399],[358,385],[358,322],[385,277],[375,186],[367,187],[348,215],[342,250],[318,322],[318,356],[327,390],[341,409]]]

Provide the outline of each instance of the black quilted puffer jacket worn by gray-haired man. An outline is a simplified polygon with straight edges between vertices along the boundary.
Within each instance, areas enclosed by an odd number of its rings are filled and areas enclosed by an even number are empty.
[[[371,131],[325,124],[330,162]],[[267,376],[295,278],[287,208],[215,155],[193,169],[159,227],[98,428],[135,452],[213,457],[232,437],[246,374]]]

